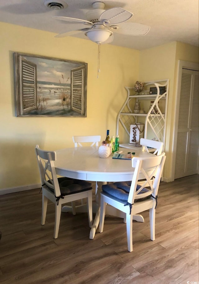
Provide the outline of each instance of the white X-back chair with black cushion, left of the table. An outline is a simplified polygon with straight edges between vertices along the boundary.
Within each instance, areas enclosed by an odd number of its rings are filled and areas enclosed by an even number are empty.
[[[54,238],[57,239],[62,204],[87,199],[87,210],[89,226],[92,227],[92,184],[90,182],[76,180],[72,178],[58,178],[54,161],[56,152],[46,151],[36,145],[37,161],[39,164],[41,184],[42,184],[42,218],[41,225],[45,224],[48,199],[55,204],[55,226]]]

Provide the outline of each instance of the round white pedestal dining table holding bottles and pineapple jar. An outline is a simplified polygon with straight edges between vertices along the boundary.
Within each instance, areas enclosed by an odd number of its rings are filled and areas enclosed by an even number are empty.
[[[60,176],[68,178],[76,178],[86,181],[94,182],[118,182],[118,181],[130,181],[132,180],[134,168],[132,168],[132,160],[124,159],[113,159],[113,154],[108,158],[100,158],[98,155],[99,147],[74,147],[74,148],[65,148],[55,151],[56,152],[56,161],[54,161],[56,172]],[[120,151],[127,153],[129,149],[120,148]],[[142,152],[141,149],[133,150],[135,154],[133,156],[137,157],[146,157],[151,155],[147,152]],[[143,178],[142,176],[139,177]],[[99,198],[99,192],[97,191],[96,195]],[[96,197],[97,201],[97,197]],[[97,201],[98,207],[96,210],[95,220],[93,222],[93,227],[90,231],[90,239],[93,239],[95,236],[96,229],[99,225],[99,215],[100,215],[100,202]],[[63,206],[62,212],[68,212],[69,206]],[[112,207],[112,206],[110,206]],[[113,207],[112,207],[113,208]],[[82,211],[81,211],[82,212]],[[113,212],[113,211],[112,211]],[[107,212],[107,214],[109,214]],[[122,214],[122,212],[121,212]],[[111,213],[110,215],[117,215],[122,218],[125,216]],[[143,222],[144,219],[141,215],[135,215],[134,220]]]

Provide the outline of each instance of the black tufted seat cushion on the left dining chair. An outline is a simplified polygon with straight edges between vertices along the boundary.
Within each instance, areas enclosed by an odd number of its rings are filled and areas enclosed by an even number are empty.
[[[80,179],[58,178],[58,183],[62,196],[92,189],[92,184],[90,182],[86,182]],[[48,188],[53,191],[52,188]]]

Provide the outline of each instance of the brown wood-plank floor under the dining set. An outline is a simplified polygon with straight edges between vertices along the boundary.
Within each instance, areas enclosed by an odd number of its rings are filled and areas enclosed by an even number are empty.
[[[95,187],[94,187],[95,188]],[[87,213],[62,213],[53,239],[54,205],[40,225],[40,189],[0,196],[1,284],[187,284],[198,279],[198,175],[161,182],[155,241],[149,212],[133,221],[133,252],[126,224],[106,216],[104,232],[89,239]]]

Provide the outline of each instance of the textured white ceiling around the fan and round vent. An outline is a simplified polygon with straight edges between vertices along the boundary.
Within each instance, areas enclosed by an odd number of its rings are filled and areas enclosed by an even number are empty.
[[[82,28],[82,25],[60,21],[53,16],[86,19],[85,13],[92,9],[92,3],[95,1],[64,1],[68,5],[67,8],[51,10],[44,5],[43,0],[1,0],[0,21],[57,34]],[[52,2],[59,1],[52,0]],[[132,12],[134,16],[128,20],[129,22],[150,26],[150,31],[144,36],[114,34],[111,43],[113,45],[144,50],[180,41],[198,46],[198,0],[104,0],[103,2],[105,9],[117,6]],[[78,37],[86,38],[83,33]]]

